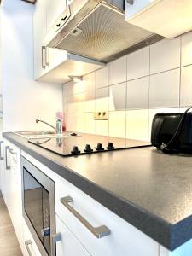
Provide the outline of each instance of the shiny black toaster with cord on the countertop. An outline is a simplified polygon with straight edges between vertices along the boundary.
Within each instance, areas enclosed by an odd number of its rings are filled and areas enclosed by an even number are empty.
[[[192,108],[192,107],[191,107]],[[151,143],[164,153],[192,154],[192,113],[157,113],[151,130]]]

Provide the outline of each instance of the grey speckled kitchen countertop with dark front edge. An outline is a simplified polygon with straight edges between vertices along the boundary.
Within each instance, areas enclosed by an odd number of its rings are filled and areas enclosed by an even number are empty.
[[[192,238],[191,156],[150,147],[63,158],[14,133],[3,137],[169,250]]]

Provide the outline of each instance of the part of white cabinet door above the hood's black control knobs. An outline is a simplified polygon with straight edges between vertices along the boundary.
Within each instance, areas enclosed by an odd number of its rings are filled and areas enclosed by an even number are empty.
[[[47,9],[47,31],[54,25],[55,20],[61,15],[66,8],[64,0],[46,0]]]

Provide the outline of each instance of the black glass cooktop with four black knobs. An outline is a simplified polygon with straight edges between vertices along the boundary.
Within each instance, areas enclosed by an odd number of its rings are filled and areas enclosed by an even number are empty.
[[[151,146],[150,143],[139,140],[73,132],[66,132],[60,137],[32,138],[28,142],[62,156]]]

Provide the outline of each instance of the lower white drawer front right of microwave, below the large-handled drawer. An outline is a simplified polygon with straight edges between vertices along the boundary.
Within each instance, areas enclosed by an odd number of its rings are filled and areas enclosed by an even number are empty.
[[[61,232],[61,241],[56,243],[56,256],[90,256],[58,216],[56,216],[56,232]]]

